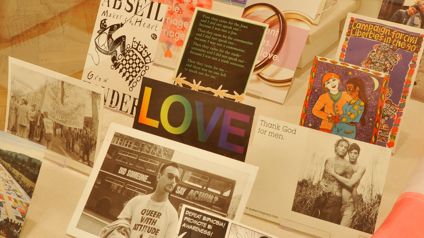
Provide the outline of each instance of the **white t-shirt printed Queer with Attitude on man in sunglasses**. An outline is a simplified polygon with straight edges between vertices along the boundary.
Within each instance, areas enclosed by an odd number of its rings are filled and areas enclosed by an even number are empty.
[[[153,202],[151,196],[133,197],[118,218],[131,220],[130,238],[175,238],[177,211],[169,200]]]

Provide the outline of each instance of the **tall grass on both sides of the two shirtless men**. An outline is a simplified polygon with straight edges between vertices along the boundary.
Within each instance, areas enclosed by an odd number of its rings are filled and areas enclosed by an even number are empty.
[[[296,193],[293,200],[292,211],[312,216],[312,208],[315,199],[321,195],[319,183],[313,184],[312,178],[298,181]],[[363,194],[358,194],[359,206],[358,213],[354,217],[350,227],[365,233],[373,234],[375,223],[377,221],[378,209],[381,202],[381,195],[377,194],[364,200]]]

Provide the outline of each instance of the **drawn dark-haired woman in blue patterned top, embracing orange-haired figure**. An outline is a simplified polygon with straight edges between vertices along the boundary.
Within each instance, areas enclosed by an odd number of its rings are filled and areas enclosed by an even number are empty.
[[[346,82],[346,90],[352,100],[343,106],[343,115],[330,116],[329,122],[335,123],[331,134],[355,139],[356,123],[365,126],[365,114],[368,108],[368,99],[365,94],[365,85],[359,78],[351,78]]]

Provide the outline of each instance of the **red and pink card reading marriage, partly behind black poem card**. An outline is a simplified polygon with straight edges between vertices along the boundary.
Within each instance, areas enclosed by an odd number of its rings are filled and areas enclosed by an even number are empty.
[[[154,63],[175,68],[196,6],[212,8],[212,0],[159,0],[168,5]]]

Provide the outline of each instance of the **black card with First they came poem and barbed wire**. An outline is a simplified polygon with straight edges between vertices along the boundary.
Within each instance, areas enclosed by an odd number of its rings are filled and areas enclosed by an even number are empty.
[[[243,102],[268,25],[196,8],[174,84]]]

